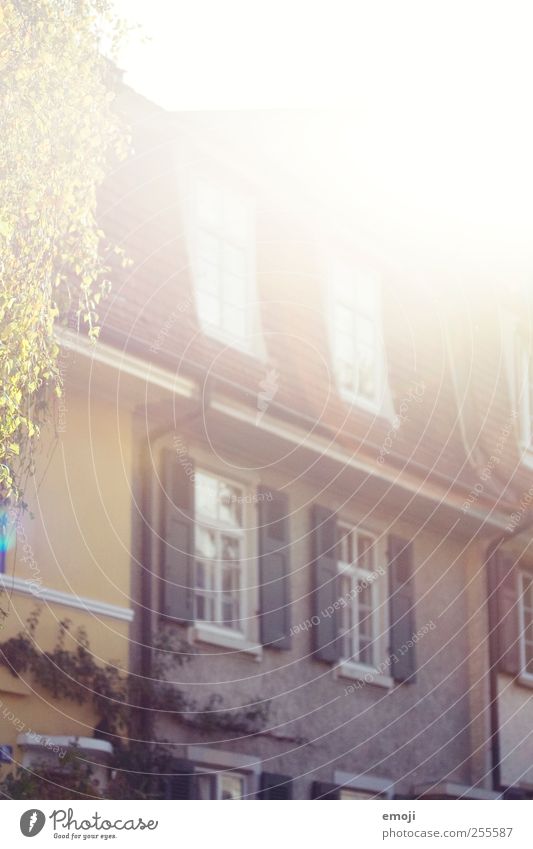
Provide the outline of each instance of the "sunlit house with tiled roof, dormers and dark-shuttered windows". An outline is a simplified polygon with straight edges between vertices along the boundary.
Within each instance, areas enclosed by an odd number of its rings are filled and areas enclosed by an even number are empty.
[[[157,792],[529,798],[527,302],[388,254],[289,167],[308,116],[122,107],[133,264],[96,346],[61,334],[36,498],[98,656],[178,694],[133,735],[172,751]]]

